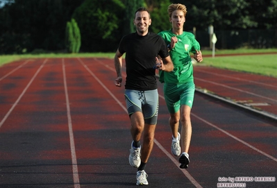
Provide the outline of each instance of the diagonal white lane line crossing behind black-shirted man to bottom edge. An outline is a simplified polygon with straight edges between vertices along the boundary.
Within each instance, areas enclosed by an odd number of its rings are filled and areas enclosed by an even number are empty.
[[[87,69],[87,71],[95,78],[95,80],[97,80],[97,82],[104,88],[104,89],[106,89],[106,91],[110,94],[110,96],[112,96],[112,98],[113,99],[115,99],[115,101],[117,101],[117,103],[121,106],[121,108],[123,108],[123,110],[126,112],[126,113],[128,113],[128,111],[127,111],[127,109],[125,108],[125,106],[124,105],[122,105],[121,104],[121,102],[117,99],[117,97],[114,95],[114,94],[112,94],[112,92],[110,92],[110,90],[108,89],[108,87],[106,87],[102,82],[101,82],[101,80],[99,80],[99,78],[97,78],[96,76],[95,76],[95,74],[87,67],[87,65],[85,65],[85,63],[80,59],[80,58],[78,58],[78,60],[81,62],[81,64],[85,67],[85,69]],[[102,62],[101,62],[102,63]],[[108,67],[109,68],[109,67]],[[115,69],[113,69],[113,71],[115,71]],[[169,157],[169,159],[172,161],[172,162],[174,162],[174,164],[176,164],[176,166],[178,166],[178,169],[180,169],[179,168],[179,163],[176,161],[176,159],[174,158],[174,157],[172,157],[168,152],[167,152],[167,150],[156,140],[156,139],[154,139],[154,142],[155,142],[155,144],[160,148],[160,150],[161,151],[163,151],[164,153],[165,153],[165,155],[167,155],[168,157]],[[187,177],[187,179],[189,179],[190,180],[190,182],[192,182],[192,184],[195,186],[195,187],[197,187],[197,188],[202,188],[201,187],[201,185],[199,185],[199,183],[198,182],[196,182],[196,180],[194,180],[194,178],[190,175],[190,173],[187,171],[187,170],[185,170],[185,169],[180,169],[182,172],[183,172],[183,174]]]

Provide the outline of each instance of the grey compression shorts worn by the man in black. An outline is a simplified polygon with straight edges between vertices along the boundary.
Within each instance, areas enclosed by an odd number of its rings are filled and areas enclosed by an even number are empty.
[[[147,91],[125,89],[124,96],[130,117],[134,112],[142,112],[145,123],[151,125],[157,124],[159,108],[158,89]]]

